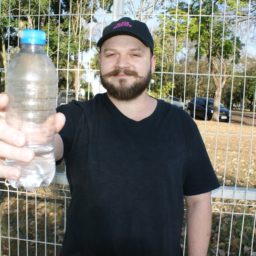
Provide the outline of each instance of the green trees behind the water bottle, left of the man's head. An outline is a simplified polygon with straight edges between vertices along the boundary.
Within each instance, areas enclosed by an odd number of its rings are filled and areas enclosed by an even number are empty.
[[[82,75],[81,54],[91,45],[87,24],[99,7],[110,11],[113,1],[3,0],[0,9],[0,68],[6,70],[8,56],[17,51],[18,32],[43,29],[47,52],[59,70],[61,85],[78,92]],[[71,82],[70,82],[71,81]]]

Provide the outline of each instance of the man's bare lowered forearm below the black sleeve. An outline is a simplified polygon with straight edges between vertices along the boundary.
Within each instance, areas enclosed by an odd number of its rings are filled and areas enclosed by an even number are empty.
[[[210,194],[202,195],[203,200],[189,202],[187,211],[188,255],[207,256],[211,236]]]

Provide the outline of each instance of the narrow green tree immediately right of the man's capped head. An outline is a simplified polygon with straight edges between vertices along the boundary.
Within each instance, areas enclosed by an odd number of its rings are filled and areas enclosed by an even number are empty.
[[[160,97],[164,94],[173,94],[175,86],[175,73],[179,64],[178,53],[186,47],[186,18],[178,16],[175,10],[160,15],[159,26],[154,31],[156,74],[155,90]],[[162,93],[164,92],[164,93]],[[177,95],[175,90],[175,96]]]

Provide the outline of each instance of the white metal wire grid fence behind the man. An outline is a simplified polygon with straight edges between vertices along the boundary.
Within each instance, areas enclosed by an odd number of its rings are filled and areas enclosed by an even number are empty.
[[[212,193],[208,255],[255,256],[256,1],[0,0],[0,90],[19,31],[35,28],[47,34],[47,54],[59,75],[58,105],[104,92],[96,42],[121,16],[148,24],[157,59],[148,92],[195,119],[221,183]],[[193,98],[206,99],[202,113]],[[33,193],[2,180],[0,255],[59,255],[69,203],[64,164],[49,188]],[[187,255],[185,219],[181,244]]]

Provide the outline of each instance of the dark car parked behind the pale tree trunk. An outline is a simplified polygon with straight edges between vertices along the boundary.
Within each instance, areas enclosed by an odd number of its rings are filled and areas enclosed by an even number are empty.
[[[203,120],[211,120],[213,115],[213,98],[193,98],[187,106],[187,111],[191,117],[203,119]],[[195,111],[195,114],[194,114]],[[219,120],[223,122],[229,121],[229,110],[224,107],[223,104],[220,103],[220,114]]]

